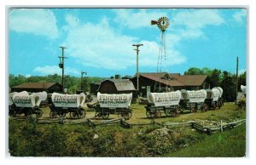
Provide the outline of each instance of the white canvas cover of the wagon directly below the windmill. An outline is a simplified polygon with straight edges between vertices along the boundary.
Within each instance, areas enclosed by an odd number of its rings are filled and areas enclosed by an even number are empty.
[[[148,94],[148,101],[154,103],[155,106],[169,106],[178,105],[181,99],[181,92],[179,90],[168,93],[150,93]]]

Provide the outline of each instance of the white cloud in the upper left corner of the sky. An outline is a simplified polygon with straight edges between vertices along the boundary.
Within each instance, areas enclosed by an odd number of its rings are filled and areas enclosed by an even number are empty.
[[[9,28],[54,39],[58,36],[55,14],[49,9],[12,9]]]

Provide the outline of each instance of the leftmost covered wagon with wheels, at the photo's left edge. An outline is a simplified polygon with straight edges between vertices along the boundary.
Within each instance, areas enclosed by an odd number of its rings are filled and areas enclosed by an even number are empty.
[[[10,111],[12,116],[24,113],[26,117],[30,117],[32,114],[36,114],[36,117],[42,117],[42,111],[39,108],[41,103],[39,94],[28,94],[28,92],[23,91],[9,94],[9,96],[9,104],[13,107]]]

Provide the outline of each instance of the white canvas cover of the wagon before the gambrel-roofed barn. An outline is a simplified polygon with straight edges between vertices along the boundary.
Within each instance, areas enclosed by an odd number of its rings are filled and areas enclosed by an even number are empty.
[[[131,94],[101,94],[97,93],[97,100],[102,108],[128,108],[131,105]]]

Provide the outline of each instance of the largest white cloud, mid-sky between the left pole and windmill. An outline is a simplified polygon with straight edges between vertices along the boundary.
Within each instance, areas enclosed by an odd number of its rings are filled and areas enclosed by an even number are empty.
[[[139,41],[137,37],[119,34],[108,25],[107,18],[103,18],[98,24],[79,23],[78,26],[73,26],[72,21],[67,23],[72,25],[65,28],[67,38],[63,45],[68,45],[67,54],[82,65],[111,70],[123,70],[128,66],[136,65],[136,51],[132,46],[134,43],[144,44],[139,48],[140,65],[154,66],[157,63],[159,54],[157,43]],[[168,65],[184,61],[182,55],[176,54],[177,60],[170,61]]]

